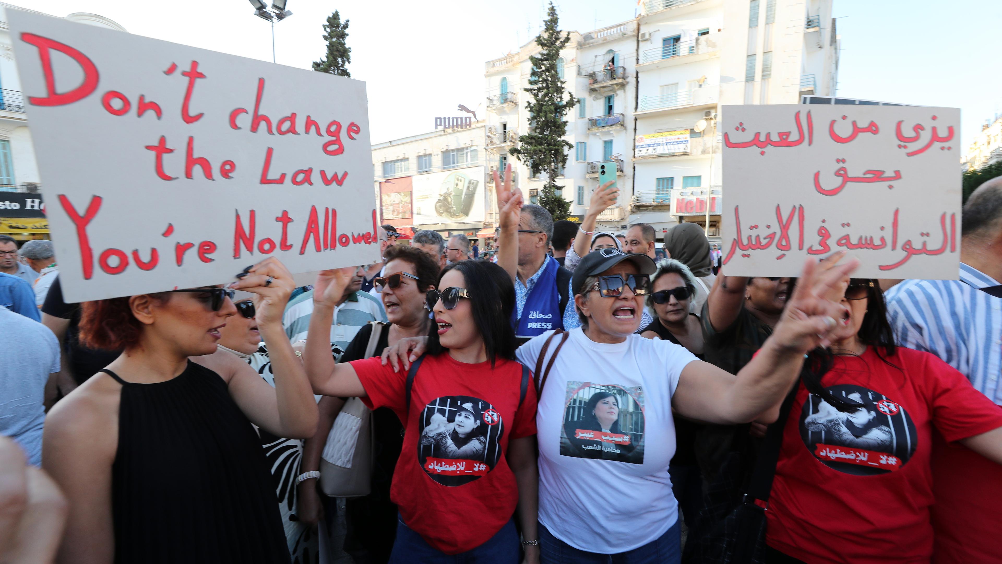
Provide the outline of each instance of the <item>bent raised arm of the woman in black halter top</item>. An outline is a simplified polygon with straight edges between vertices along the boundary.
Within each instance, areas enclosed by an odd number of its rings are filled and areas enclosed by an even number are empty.
[[[232,288],[257,294],[258,329],[268,345],[275,387],[245,362],[236,364],[227,380],[229,394],[247,418],[276,437],[306,439],[317,430],[317,402],[303,364],[282,326],[282,315],[295,282],[275,257],[258,263]]]

